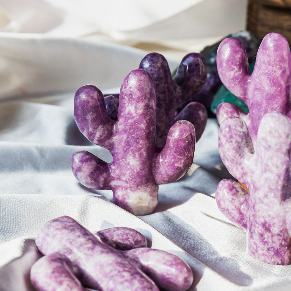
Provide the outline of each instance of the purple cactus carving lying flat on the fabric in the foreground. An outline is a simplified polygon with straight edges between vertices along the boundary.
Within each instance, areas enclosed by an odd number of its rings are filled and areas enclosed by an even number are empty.
[[[116,230],[128,237],[128,230]],[[135,240],[134,233],[129,237]],[[149,248],[116,250],[68,216],[45,223],[36,246],[44,255],[30,272],[38,291],[84,291],[83,285],[100,291],[159,291],[158,286],[185,291],[193,282],[190,267],[176,255]]]

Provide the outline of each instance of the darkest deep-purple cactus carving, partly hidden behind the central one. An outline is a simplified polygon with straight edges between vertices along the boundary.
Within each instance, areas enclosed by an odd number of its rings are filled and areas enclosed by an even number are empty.
[[[139,69],[147,71],[152,77],[157,98],[156,145],[163,147],[167,134],[175,123],[175,111],[188,101],[204,85],[207,76],[203,56],[191,53],[182,59],[176,76],[172,79],[168,62],[158,53],[147,54],[141,61]],[[191,113],[189,112],[191,109]],[[205,107],[195,102],[181,112],[181,116],[193,123],[196,131],[196,141],[200,139],[207,121]]]

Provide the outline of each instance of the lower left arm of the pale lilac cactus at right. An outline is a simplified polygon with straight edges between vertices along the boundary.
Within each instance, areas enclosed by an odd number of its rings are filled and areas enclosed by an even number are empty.
[[[219,210],[239,228],[246,229],[249,220],[249,195],[233,180],[222,180],[216,188]]]

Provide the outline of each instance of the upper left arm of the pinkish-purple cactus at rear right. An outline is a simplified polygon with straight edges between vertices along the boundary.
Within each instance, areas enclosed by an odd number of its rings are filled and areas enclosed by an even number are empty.
[[[243,44],[234,38],[225,38],[218,47],[216,60],[222,83],[249,105],[246,84],[251,73]]]

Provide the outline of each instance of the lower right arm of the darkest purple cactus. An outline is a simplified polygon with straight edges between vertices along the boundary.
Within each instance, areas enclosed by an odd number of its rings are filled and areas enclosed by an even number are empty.
[[[187,120],[194,125],[196,133],[196,142],[200,139],[207,122],[207,110],[205,106],[199,102],[190,102],[175,117],[178,120]]]

